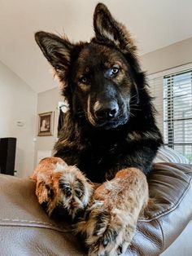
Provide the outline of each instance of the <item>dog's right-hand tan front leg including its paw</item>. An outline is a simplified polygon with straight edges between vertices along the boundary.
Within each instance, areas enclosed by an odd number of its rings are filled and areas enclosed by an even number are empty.
[[[137,218],[148,201],[148,184],[141,170],[120,170],[94,192],[94,200],[78,223],[89,255],[123,254],[132,241]]]

